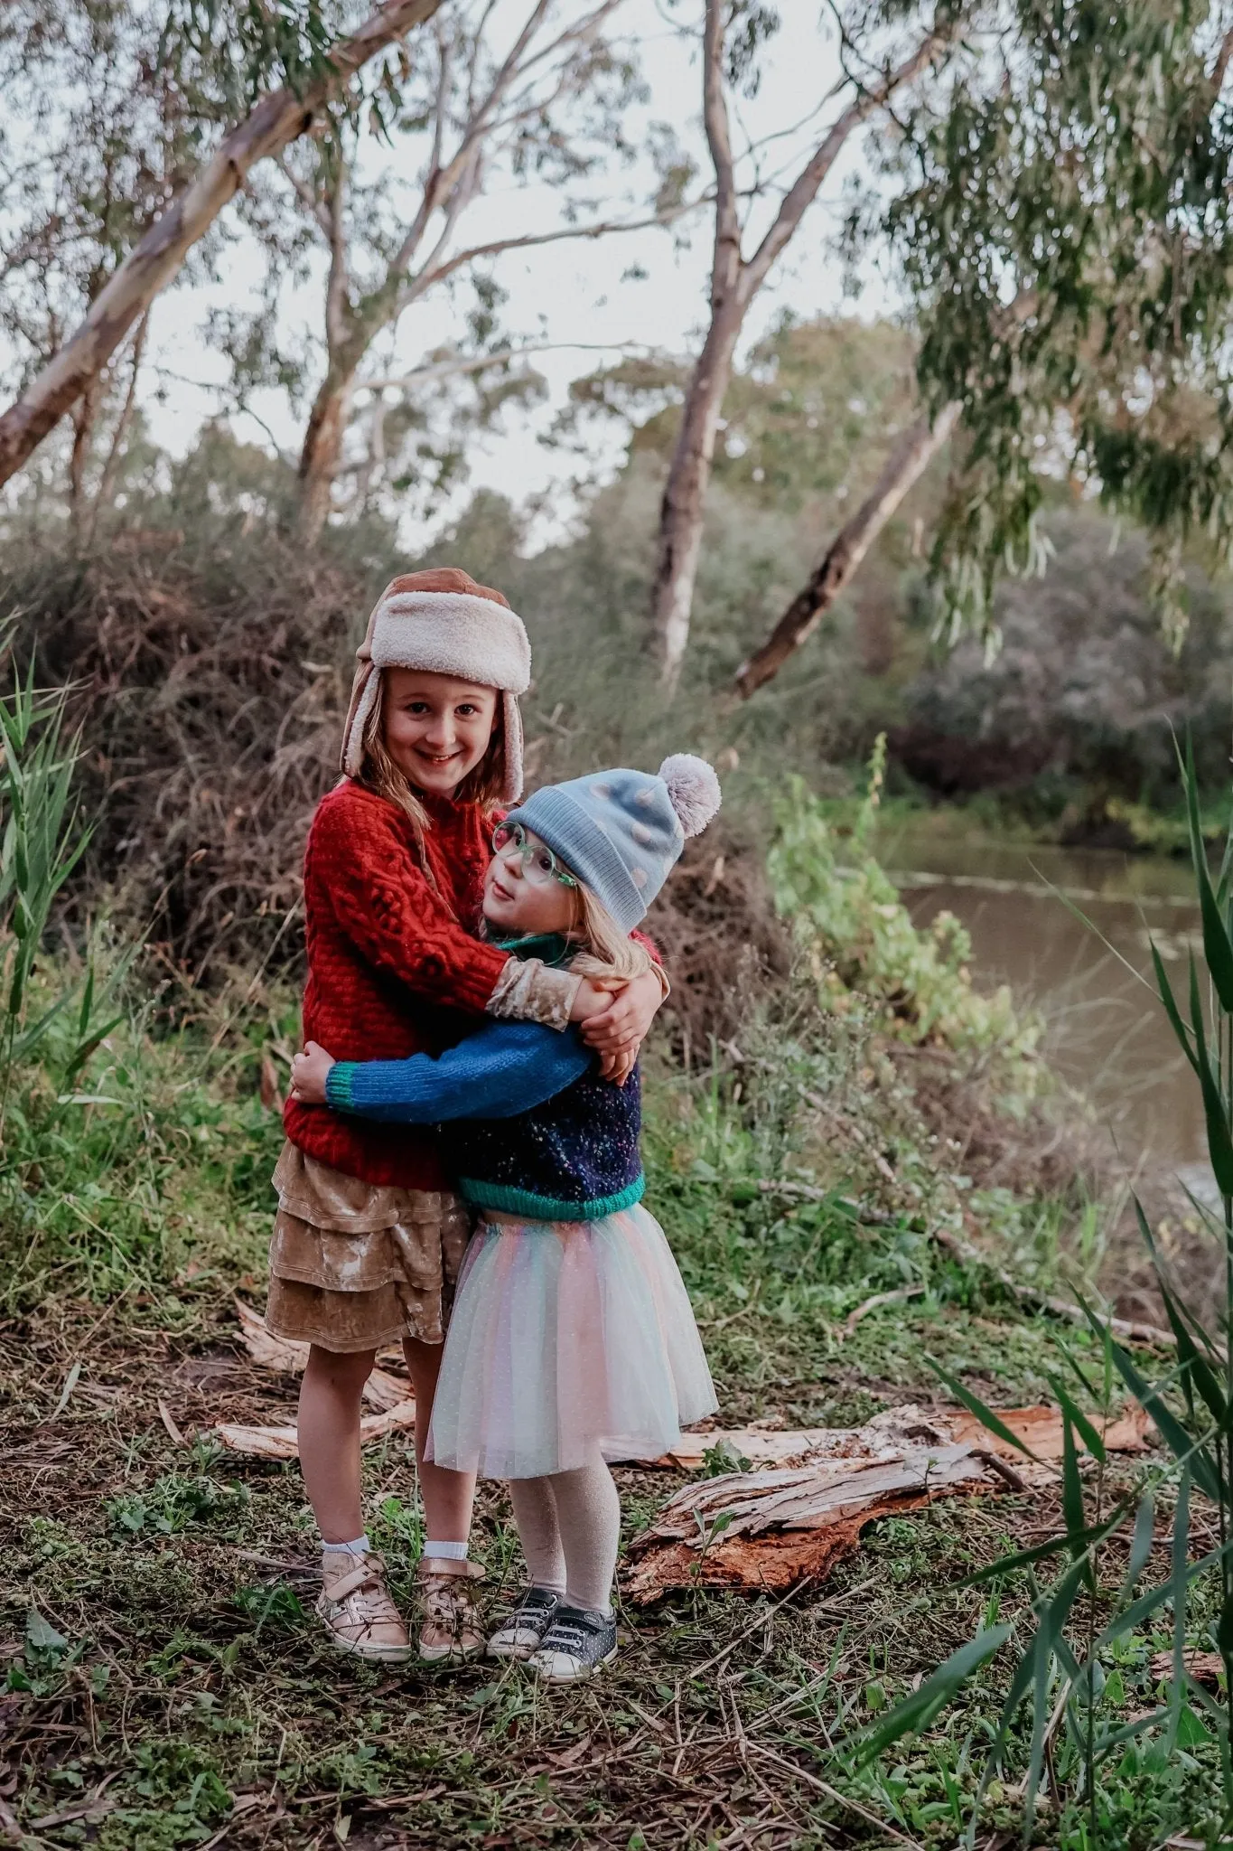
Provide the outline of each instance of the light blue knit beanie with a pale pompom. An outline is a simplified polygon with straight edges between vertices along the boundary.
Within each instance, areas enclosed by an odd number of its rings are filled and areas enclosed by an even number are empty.
[[[588,772],[545,785],[510,811],[632,931],[671,874],[688,835],[719,809],[719,779],[704,759],[675,752],[653,772]]]

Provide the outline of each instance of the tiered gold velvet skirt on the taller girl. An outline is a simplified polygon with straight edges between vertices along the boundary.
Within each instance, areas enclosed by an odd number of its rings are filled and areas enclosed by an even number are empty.
[[[362,1183],[296,1144],[283,1146],[274,1186],[266,1323],[277,1336],[348,1355],[403,1336],[444,1342],[471,1235],[458,1196]]]

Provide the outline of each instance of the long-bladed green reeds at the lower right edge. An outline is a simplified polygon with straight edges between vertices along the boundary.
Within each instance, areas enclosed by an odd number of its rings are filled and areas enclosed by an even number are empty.
[[[1020,1784],[1024,1831],[1032,1829],[1041,1784],[1048,1781],[1056,1799],[1068,1788],[1065,1797],[1085,1807],[1093,1845],[1102,1842],[1100,1775],[1115,1757],[1126,1753],[1128,1744],[1144,1736],[1154,1736],[1170,1758],[1178,1749],[1215,1738],[1224,1786],[1222,1831],[1233,1825],[1233,827],[1213,872],[1189,740],[1179,752],[1179,766],[1203,927],[1202,957],[1190,953],[1183,998],[1176,996],[1155,944],[1152,970],[1161,1007],[1202,1092],[1220,1209],[1215,1211],[1194,1194],[1190,1201],[1202,1225],[1224,1251],[1224,1303],[1215,1311],[1196,1307],[1178,1290],[1148,1214],[1135,1196],[1139,1231],[1174,1335],[1172,1360],[1150,1373],[1115,1338],[1109,1320],[1085,1307],[1098,1346],[1096,1366],[1091,1359],[1080,1360],[1059,1338],[1061,1372],[1050,1375],[1065,1433],[1063,1523],[1035,1547],[1000,1557],[971,1577],[969,1584],[989,1584],[995,1590],[976,1638],[952,1653],[873,1731],[847,1744],[847,1757],[856,1764],[880,1760],[898,1742],[919,1734],[976,1671],[1013,1644],[1015,1666],[980,1792],[985,1794],[995,1773],[1006,1771],[1011,1745],[1024,1747],[1026,1707],[1026,1770]],[[937,1373],[991,1433],[1028,1451],[963,1383],[941,1368]],[[1083,1405],[1107,1414],[1115,1392],[1122,1390],[1129,1390],[1155,1422],[1166,1462],[1144,1473],[1131,1490],[1111,1496],[1100,1420],[1093,1420]],[[1094,1472],[1081,1470],[1081,1453],[1094,1460]],[[1172,1501],[1170,1570],[1163,1581],[1141,1588],[1155,1542],[1161,1496]],[[1216,1518],[1216,1546],[1196,1559],[1190,1525],[1194,1497],[1203,1499]],[[1107,1546],[1115,1536],[1126,1568],[1109,1584]],[[1059,1568],[1043,1586],[1039,1577],[1050,1564]],[[1028,1616],[1019,1625],[1007,1625],[998,1620],[1000,1590],[1015,1575],[1030,1579]],[[1215,1610],[1215,1618],[1202,1618],[1192,1627],[1196,1588],[1211,1581],[1218,1584],[1218,1599],[1203,1601],[1202,1607],[1205,1614]],[[1159,1623],[1157,1616],[1165,1609],[1172,1614],[1168,1696],[1148,1714],[1120,1721],[1104,1701],[1118,1642]],[[1215,1694],[1192,1675],[1190,1653],[1205,1646],[1215,1647],[1224,1666],[1224,1679]],[[969,1842],[974,1842],[978,1818],[980,1805],[972,1810]]]

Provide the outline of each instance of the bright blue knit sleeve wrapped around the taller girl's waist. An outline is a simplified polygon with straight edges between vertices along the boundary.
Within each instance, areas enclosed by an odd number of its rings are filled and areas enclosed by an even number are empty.
[[[562,1035],[538,1022],[492,1022],[442,1055],[336,1061],[325,1079],[325,1103],[403,1125],[516,1118],[564,1092],[590,1064],[577,1029]]]

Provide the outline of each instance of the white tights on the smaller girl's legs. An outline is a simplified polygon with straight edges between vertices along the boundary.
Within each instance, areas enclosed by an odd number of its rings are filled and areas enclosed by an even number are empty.
[[[510,1479],[510,1503],[532,1586],[562,1596],[566,1607],[608,1612],[621,1501],[599,1453],[577,1472]]]

